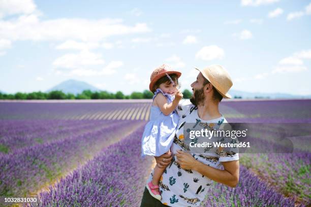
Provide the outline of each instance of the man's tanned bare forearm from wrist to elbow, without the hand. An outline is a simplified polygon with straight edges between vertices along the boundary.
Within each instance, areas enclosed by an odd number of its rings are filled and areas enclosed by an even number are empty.
[[[193,169],[213,181],[225,184],[232,188],[235,187],[238,182],[236,176],[232,175],[229,171],[208,166],[200,161],[196,161]]]

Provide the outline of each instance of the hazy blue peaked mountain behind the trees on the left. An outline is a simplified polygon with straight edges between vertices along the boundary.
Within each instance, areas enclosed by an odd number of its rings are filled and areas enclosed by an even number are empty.
[[[45,92],[49,92],[53,90],[61,90],[64,93],[73,93],[76,95],[78,93],[82,93],[83,90],[99,91],[100,89],[86,82],[70,79],[70,80],[61,82],[60,84],[54,86],[53,88]]]

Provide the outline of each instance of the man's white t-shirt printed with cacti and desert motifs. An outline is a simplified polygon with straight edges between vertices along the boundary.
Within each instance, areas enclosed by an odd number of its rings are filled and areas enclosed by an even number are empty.
[[[183,149],[183,125],[184,123],[196,123],[197,119],[201,123],[207,123],[215,129],[218,129],[222,123],[228,123],[222,116],[212,120],[202,120],[198,116],[197,107],[194,106],[189,99],[180,100],[176,111],[179,116],[179,122],[176,130],[176,136],[171,146],[173,154],[177,150]],[[199,123],[200,123],[199,122]],[[216,153],[191,153],[194,158],[211,167],[220,168],[221,162],[238,160],[238,153],[234,155],[219,155]],[[176,158],[176,157],[174,157]],[[147,180],[151,181],[153,170]],[[160,182],[160,192],[162,196],[161,202],[169,206],[199,206],[207,193],[207,189],[211,185],[212,180],[203,176],[196,170],[184,170],[180,168],[176,161],[168,165],[164,171]]]

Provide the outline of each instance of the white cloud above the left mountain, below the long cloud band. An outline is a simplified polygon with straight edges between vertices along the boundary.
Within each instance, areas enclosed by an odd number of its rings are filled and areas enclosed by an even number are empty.
[[[82,50],[80,53],[70,53],[60,56],[54,60],[53,65],[63,68],[79,68],[87,65],[104,64],[101,54]]]

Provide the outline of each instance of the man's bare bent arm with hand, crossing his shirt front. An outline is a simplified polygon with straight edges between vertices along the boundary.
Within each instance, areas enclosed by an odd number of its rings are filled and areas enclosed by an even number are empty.
[[[234,188],[239,181],[239,160],[222,162],[224,170],[208,166],[191,154],[177,150],[177,162],[183,169],[193,169],[207,178]]]

